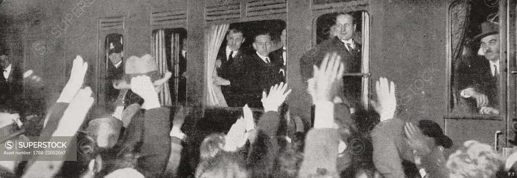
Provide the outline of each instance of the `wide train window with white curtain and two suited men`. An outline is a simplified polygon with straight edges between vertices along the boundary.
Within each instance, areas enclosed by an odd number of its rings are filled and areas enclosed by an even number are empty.
[[[262,92],[286,80],[285,27],[265,20],[208,29],[208,106],[262,108]]]

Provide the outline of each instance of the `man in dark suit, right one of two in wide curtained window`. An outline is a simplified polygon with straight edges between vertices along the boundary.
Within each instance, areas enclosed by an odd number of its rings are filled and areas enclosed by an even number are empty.
[[[280,66],[277,61],[270,58],[271,36],[267,32],[255,35],[253,48],[255,52],[246,55],[242,59],[244,67],[244,81],[242,86],[244,95],[239,100],[241,105],[248,103],[251,108],[262,108],[262,92],[283,81],[279,73]]]

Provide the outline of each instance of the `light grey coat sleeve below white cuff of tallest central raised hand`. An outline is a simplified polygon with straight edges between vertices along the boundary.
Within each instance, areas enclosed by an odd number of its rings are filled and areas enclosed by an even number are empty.
[[[331,141],[329,141],[331,140]],[[299,177],[339,177],[336,169],[339,134],[336,129],[314,129],[306,136]]]

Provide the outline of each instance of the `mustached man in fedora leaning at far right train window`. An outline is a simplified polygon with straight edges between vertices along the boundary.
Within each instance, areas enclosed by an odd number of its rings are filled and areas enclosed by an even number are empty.
[[[499,25],[497,14],[489,15],[488,21],[481,24],[482,33],[476,35],[473,41],[479,41],[480,53],[484,59],[480,66],[476,66],[476,75],[472,83],[462,84],[467,86],[460,90],[460,96],[464,102],[460,107],[465,110],[473,110],[479,114],[499,114],[499,76],[501,65],[499,60]],[[504,67],[504,66],[503,66]]]

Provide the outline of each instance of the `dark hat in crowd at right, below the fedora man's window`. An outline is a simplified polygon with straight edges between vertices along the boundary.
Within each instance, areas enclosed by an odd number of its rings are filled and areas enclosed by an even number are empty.
[[[422,130],[424,135],[433,137],[436,145],[443,146],[444,148],[452,147],[452,140],[444,135],[444,131],[438,123],[432,120],[420,120],[418,121],[418,128]]]

